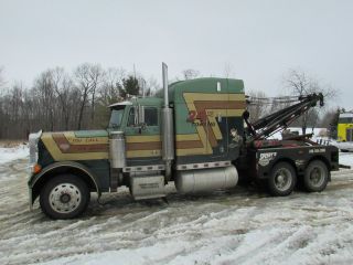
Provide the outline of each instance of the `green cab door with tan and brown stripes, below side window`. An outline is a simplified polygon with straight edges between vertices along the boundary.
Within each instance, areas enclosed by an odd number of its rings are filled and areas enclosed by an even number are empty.
[[[131,106],[125,129],[127,166],[162,163],[160,108],[157,106],[145,106],[143,125],[137,125],[137,114],[135,112],[136,109]]]

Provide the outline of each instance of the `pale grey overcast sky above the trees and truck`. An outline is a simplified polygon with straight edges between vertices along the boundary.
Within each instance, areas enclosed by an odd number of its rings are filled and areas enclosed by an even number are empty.
[[[353,108],[353,1],[350,0],[0,0],[0,65],[31,85],[42,71],[99,63],[160,81],[194,68],[242,78],[247,91],[282,92],[301,68],[341,91]],[[161,83],[161,82],[160,82]]]

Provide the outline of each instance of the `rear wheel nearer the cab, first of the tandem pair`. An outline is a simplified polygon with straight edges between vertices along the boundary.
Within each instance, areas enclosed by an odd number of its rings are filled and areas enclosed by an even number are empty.
[[[267,187],[271,195],[289,195],[297,183],[297,173],[293,167],[288,162],[276,163],[271,174],[267,180]]]

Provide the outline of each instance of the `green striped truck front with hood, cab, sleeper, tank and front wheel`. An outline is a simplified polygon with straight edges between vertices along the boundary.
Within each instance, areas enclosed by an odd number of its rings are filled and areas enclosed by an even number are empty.
[[[120,186],[137,200],[165,197],[169,181],[181,192],[234,187],[243,81],[197,78],[164,92],[110,105],[106,130],[32,134],[30,204],[40,198],[49,216],[68,219],[85,210],[90,192]],[[189,183],[203,179],[201,171],[211,180]]]

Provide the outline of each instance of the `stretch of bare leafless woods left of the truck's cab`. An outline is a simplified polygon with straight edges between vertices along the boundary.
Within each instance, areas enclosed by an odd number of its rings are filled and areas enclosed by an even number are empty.
[[[129,95],[159,88],[154,78],[84,63],[68,73],[54,67],[39,74],[31,87],[8,87],[0,72],[0,139],[25,139],[29,132],[105,128],[109,106]]]

